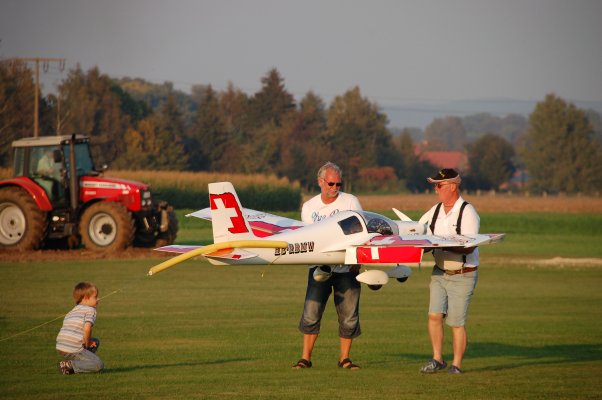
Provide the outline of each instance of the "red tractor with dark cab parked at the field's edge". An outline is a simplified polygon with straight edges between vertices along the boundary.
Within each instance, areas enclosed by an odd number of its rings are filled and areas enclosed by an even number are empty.
[[[156,203],[147,184],[101,177],[88,143],[83,135],[13,142],[14,178],[0,181],[0,249],[57,240],[75,247],[80,239],[99,251],[174,242],[173,208]]]

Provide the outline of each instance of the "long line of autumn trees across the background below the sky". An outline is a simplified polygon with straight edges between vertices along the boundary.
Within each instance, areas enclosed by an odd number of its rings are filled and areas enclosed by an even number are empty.
[[[12,140],[33,135],[34,90],[26,64],[0,62],[1,166],[11,162]],[[223,91],[195,85],[187,94],[169,82],[114,79],[78,65],[56,94],[40,98],[42,135],[86,134],[96,162],[117,169],[275,174],[309,190],[330,160],[343,168],[345,190],[421,191],[436,167],[418,146],[465,152],[469,189],[499,189],[517,169],[528,173],[532,190],[602,188],[600,115],[554,94],[528,119],[450,116],[424,132],[388,128],[359,87],[328,105],[312,91],[297,102],[275,68],[249,95],[232,83]]]

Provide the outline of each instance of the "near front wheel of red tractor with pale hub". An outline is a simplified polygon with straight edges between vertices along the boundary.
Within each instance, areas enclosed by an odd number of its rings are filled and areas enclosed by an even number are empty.
[[[123,204],[101,201],[84,211],[79,231],[87,249],[123,250],[134,240],[134,219]]]

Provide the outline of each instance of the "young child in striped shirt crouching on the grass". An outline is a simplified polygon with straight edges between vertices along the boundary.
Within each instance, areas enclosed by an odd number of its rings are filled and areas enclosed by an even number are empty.
[[[92,337],[98,288],[92,283],[80,282],[73,289],[73,298],[77,305],[65,316],[56,337],[56,349],[64,359],[59,363],[59,370],[63,375],[99,372],[104,363],[94,353],[100,342]]]

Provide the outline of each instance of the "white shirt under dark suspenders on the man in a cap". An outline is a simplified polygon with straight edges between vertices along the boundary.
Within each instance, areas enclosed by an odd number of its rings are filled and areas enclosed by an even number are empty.
[[[449,213],[445,213],[445,209],[443,205],[439,209],[439,215],[437,216],[437,222],[435,223],[435,232],[434,235],[455,235],[456,226],[458,224],[458,216],[460,214],[460,207],[464,199],[462,196],[456,200],[454,206],[449,211]],[[426,212],[421,218],[421,224],[427,224],[430,226],[433,215],[435,214],[435,209],[437,205],[435,204],[430,210]],[[477,210],[472,206],[472,204],[468,204],[464,207],[464,212],[462,213],[462,226],[461,226],[461,234],[462,235],[476,235],[479,233],[480,219],[479,214],[477,214]],[[479,249],[476,248],[472,253],[466,254],[466,262],[464,263],[464,254],[453,253],[451,251],[446,251],[442,249],[433,250],[433,256],[435,257],[435,264],[441,269],[460,269],[462,265],[465,268],[476,267],[479,265]]]

